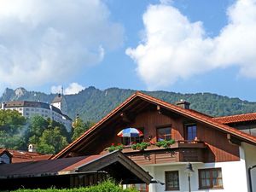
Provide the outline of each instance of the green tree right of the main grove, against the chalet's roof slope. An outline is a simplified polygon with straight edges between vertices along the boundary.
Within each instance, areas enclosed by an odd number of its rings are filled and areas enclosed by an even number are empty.
[[[84,121],[80,118],[77,118],[73,124],[73,136],[72,141],[76,140],[78,137],[80,137],[85,131],[89,130],[90,127],[94,125],[91,121]]]

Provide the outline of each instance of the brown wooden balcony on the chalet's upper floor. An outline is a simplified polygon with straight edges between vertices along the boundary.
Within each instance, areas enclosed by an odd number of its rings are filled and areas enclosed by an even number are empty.
[[[207,150],[203,142],[177,141],[169,148],[150,145],[143,151],[125,146],[123,153],[139,165],[165,164],[174,162],[204,162]]]

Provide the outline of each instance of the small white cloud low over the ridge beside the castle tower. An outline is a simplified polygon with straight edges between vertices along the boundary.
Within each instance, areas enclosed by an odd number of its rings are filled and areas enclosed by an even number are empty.
[[[85,87],[78,83],[71,83],[68,85],[66,89],[64,89],[65,95],[72,95],[77,94],[79,91],[84,90]],[[51,93],[61,93],[62,92],[62,86],[61,85],[54,85],[50,88]]]

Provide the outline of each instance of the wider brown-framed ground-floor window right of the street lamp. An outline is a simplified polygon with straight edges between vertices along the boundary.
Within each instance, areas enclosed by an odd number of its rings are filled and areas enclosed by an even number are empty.
[[[200,189],[223,189],[221,168],[198,170]]]

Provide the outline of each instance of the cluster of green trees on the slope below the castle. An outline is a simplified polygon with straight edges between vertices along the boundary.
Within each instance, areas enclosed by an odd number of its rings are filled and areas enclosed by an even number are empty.
[[[25,119],[17,111],[0,110],[0,148],[27,150],[29,144],[42,154],[56,154],[93,125],[77,119],[73,131],[41,116]]]

